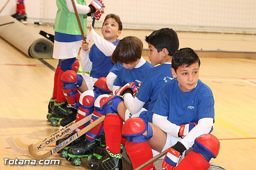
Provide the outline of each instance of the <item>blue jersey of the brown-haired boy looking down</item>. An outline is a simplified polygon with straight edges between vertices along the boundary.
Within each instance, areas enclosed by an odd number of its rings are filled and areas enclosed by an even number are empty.
[[[142,82],[148,70],[153,67],[154,66],[148,61],[146,61],[146,63],[144,63],[142,66],[130,70],[120,67],[114,85],[122,87],[126,83],[134,82],[137,86],[139,86],[139,83]]]

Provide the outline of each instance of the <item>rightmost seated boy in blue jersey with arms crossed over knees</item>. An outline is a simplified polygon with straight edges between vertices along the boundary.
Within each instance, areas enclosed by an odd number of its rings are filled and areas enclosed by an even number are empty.
[[[126,152],[133,168],[153,157],[151,148],[162,152],[171,147],[163,170],[177,166],[185,150],[192,146],[193,152],[179,169],[205,169],[210,166],[210,158],[218,155],[218,139],[207,135],[214,123],[214,98],[211,89],[198,79],[199,66],[200,59],[193,49],[182,48],[174,53],[171,71],[175,79],[165,83],[160,91],[152,110],[154,124],[139,117],[124,123],[122,134],[127,138]],[[154,169],[154,163],[143,170],[150,168]]]

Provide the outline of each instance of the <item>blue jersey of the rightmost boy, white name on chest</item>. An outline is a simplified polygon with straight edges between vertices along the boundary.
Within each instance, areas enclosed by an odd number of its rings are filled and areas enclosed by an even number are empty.
[[[173,79],[162,87],[152,112],[167,116],[168,121],[178,126],[198,123],[202,118],[214,119],[213,94],[200,80],[193,90],[183,92],[177,79]]]

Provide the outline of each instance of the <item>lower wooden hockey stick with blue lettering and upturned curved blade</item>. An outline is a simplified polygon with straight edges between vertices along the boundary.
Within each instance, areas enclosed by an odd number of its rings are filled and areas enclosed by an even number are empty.
[[[71,142],[73,142],[74,140],[76,140],[77,138],[79,138],[80,136],[85,134],[86,132],[88,132],[90,129],[96,127],[99,123],[101,123],[104,120],[104,118],[105,118],[105,116],[102,116],[99,119],[97,119],[96,121],[94,121],[93,123],[90,123],[90,125],[86,126],[85,128],[83,128],[76,134],[72,135],[70,138],[68,138],[65,141],[63,141],[62,143],[60,143],[54,149],[50,150],[50,152],[46,152],[45,154],[42,154],[42,155],[36,154],[33,144],[30,144],[28,146],[29,153],[33,158],[35,158],[37,160],[49,158],[54,153],[62,150],[62,148],[66,147],[68,144],[70,144]]]

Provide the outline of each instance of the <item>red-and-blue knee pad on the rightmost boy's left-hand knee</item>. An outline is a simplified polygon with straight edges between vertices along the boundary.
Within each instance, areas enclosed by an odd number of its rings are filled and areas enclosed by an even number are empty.
[[[143,133],[147,130],[147,136]],[[122,128],[122,135],[126,136],[128,142],[142,143],[150,140],[153,136],[153,130],[148,121],[140,117],[128,119]]]

